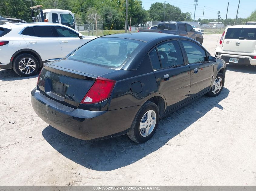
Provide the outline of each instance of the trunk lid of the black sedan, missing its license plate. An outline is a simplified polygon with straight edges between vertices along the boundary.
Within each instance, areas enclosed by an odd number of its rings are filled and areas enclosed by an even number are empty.
[[[78,108],[99,76],[114,69],[71,60],[46,63],[38,77],[39,91],[66,106]]]

